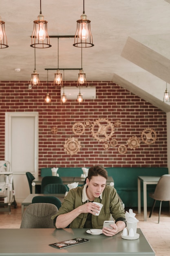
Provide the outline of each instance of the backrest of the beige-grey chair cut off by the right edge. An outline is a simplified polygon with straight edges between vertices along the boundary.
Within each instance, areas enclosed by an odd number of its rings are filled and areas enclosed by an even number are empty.
[[[154,199],[159,201],[170,201],[170,174],[162,175],[154,192]]]

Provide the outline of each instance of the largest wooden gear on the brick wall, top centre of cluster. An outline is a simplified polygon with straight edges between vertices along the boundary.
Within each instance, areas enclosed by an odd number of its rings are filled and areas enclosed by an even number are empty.
[[[91,131],[92,136],[95,139],[104,142],[112,137],[115,129],[113,124],[108,121],[108,119],[99,118],[93,123]]]

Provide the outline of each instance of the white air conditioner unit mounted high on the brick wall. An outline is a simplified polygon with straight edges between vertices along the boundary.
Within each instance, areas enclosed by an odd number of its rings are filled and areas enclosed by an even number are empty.
[[[79,88],[77,87],[62,87],[61,96],[64,93],[66,94],[67,99],[77,99],[79,94]],[[96,88],[95,86],[80,88],[83,99],[96,99]]]

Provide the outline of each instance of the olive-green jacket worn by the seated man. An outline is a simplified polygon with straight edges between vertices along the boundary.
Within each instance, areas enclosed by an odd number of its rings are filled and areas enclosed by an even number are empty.
[[[60,214],[68,213],[80,205],[87,203],[88,200],[82,202],[83,188],[84,186],[78,186],[75,189],[71,189],[64,198],[64,202],[62,203],[58,213],[55,216],[52,216],[52,219],[55,219],[55,217],[59,216]],[[95,198],[94,202],[102,203],[103,207],[99,216],[92,215],[93,228],[102,229],[104,220],[110,220],[112,217],[115,221],[118,218],[123,218],[125,220],[124,208],[121,205],[116,190],[112,186],[106,185],[102,195],[100,195],[99,198]],[[83,228],[87,215],[88,213],[81,213],[71,222],[70,228]]]

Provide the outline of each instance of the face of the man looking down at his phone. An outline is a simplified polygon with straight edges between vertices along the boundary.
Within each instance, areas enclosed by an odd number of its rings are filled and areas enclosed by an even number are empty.
[[[102,176],[92,176],[90,181],[88,178],[86,179],[86,183],[88,184],[87,195],[94,199],[98,198],[104,191],[106,186],[106,178]]]

